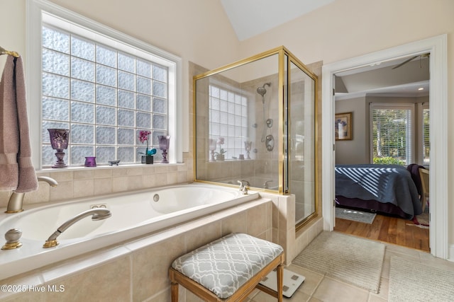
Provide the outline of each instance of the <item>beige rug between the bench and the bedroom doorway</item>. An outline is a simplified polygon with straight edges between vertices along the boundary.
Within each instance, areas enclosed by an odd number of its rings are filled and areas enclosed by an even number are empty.
[[[293,260],[311,269],[377,293],[385,245],[337,232],[322,232]]]

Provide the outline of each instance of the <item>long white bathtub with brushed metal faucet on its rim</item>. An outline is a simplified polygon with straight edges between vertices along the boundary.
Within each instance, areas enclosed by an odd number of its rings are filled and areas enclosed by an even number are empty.
[[[18,214],[4,214],[1,209],[0,238],[9,229],[20,228],[23,246],[0,250],[0,279],[145,236],[259,197],[258,192],[249,193],[243,195],[236,188],[190,183],[25,207],[25,211]],[[159,200],[155,202],[157,196]],[[85,217],[58,236],[59,245],[43,248],[45,240],[62,223],[93,206],[106,207],[112,216],[101,221]]]

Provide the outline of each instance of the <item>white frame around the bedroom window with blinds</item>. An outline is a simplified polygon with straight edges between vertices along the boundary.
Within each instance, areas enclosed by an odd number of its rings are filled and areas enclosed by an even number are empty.
[[[382,110],[410,110],[411,114],[411,124],[407,127],[410,133],[407,133],[407,138],[410,140],[410,146],[406,146],[407,152],[410,154],[406,154],[406,165],[410,163],[414,163],[414,154],[415,154],[415,144],[417,139],[415,139],[415,108],[414,104],[403,104],[403,103],[370,103],[370,161],[373,163],[374,158],[374,146],[373,146],[373,115],[372,112],[374,109],[382,109]]]

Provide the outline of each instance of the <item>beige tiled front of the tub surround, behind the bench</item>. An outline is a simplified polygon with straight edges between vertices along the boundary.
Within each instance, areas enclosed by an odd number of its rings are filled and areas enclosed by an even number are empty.
[[[270,199],[256,199],[160,233],[4,279],[0,284],[26,286],[27,291],[0,292],[0,301],[167,301],[168,268],[176,257],[232,232],[272,240],[272,211]],[[45,292],[31,290],[40,286],[45,286]],[[60,288],[64,291],[49,290]],[[186,301],[186,291],[180,289],[179,296],[180,301]]]

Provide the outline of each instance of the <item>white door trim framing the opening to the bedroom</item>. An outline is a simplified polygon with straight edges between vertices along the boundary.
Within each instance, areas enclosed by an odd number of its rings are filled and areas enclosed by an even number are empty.
[[[430,245],[431,254],[442,259],[448,259],[448,229],[447,229],[447,36],[440,35],[426,40],[412,42],[388,50],[366,54],[361,57],[327,64],[322,69],[322,213],[323,228],[333,231],[334,214],[334,75],[360,66],[388,62],[390,60],[409,57],[417,54],[430,54],[431,83],[430,100],[431,113],[436,119],[431,119],[431,199],[437,202],[431,208]],[[328,146],[328,147],[326,147]],[[332,146],[330,148],[329,146]],[[434,146],[437,146],[435,149]]]

